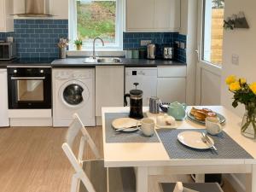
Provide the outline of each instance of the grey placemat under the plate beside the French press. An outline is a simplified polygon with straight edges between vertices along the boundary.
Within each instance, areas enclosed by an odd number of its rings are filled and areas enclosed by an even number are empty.
[[[112,121],[118,118],[128,117],[129,113],[105,113],[106,143],[159,143],[159,138],[154,134],[145,137],[141,131],[116,133]]]

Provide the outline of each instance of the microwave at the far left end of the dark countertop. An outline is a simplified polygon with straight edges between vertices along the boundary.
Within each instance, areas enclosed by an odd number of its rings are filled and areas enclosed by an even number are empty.
[[[0,60],[12,60],[16,57],[15,43],[0,43]]]

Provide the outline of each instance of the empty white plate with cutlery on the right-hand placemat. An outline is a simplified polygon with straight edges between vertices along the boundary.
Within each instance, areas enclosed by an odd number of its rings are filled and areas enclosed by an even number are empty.
[[[201,138],[202,138],[201,132],[198,132],[198,131],[183,131],[177,135],[177,140],[180,143],[183,143],[183,145],[188,146],[189,148],[196,148],[196,149],[211,148],[206,143],[203,143]],[[209,139],[214,144],[212,137],[209,137]]]

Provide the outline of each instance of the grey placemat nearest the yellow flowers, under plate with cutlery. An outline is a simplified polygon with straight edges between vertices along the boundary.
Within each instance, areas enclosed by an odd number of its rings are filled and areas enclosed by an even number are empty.
[[[200,150],[184,146],[177,140],[177,135],[183,131],[204,131],[201,130],[170,130],[159,129],[157,133],[161,142],[166,148],[166,152],[171,159],[253,159],[246,150],[241,148],[231,137],[222,132],[218,136],[211,136],[214,140],[217,153],[211,149]]]

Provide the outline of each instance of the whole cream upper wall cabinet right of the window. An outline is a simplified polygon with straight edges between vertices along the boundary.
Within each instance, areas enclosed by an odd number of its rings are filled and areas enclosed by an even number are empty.
[[[126,0],[126,32],[177,32],[180,0]]]

